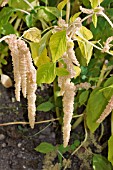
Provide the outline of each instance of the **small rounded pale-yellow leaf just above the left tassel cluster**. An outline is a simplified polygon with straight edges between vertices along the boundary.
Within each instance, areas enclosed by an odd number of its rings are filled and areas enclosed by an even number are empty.
[[[38,43],[41,39],[41,31],[36,27],[32,27],[29,28],[27,31],[24,31],[23,36],[27,40]]]

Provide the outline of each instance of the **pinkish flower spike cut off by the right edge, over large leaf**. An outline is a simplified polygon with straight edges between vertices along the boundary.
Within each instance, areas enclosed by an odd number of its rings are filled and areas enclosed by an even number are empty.
[[[97,123],[101,123],[110,114],[112,110],[113,110],[113,96],[111,97],[105,110],[103,111],[99,119],[97,120]]]

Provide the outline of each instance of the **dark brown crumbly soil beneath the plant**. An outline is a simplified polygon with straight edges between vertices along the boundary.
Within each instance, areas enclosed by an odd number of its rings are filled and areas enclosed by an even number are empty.
[[[12,73],[10,74],[12,76]],[[46,99],[52,95],[52,90],[48,86],[44,86],[43,90],[38,88],[38,95]],[[54,117],[55,113],[52,112],[37,112],[36,121],[49,120]],[[0,84],[0,123],[17,121],[28,121],[27,102],[23,97],[21,97],[21,102],[16,102],[14,87],[6,89]],[[104,123],[107,128],[105,128],[101,143],[109,138],[109,124],[109,122]],[[71,167],[67,169],[92,170],[92,152],[107,156],[107,148],[101,151],[101,146],[96,142],[99,136],[100,130],[97,130],[96,135],[71,157]],[[75,139],[83,141],[83,123],[71,132],[70,144]],[[0,170],[42,170],[44,154],[34,150],[41,142],[49,142],[54,146],[62,144],[62,132],[58,122],[38,124],[34,129],[28,125],[0,126]],[[69,153],[64,156],[68,159]],[[55,159],[53,164],[56,162],[58,159]]]

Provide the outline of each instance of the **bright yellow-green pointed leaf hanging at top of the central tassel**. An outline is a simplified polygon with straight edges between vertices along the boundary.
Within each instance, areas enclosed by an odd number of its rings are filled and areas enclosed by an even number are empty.
[[[66,31],[59,31],[53,34],[50,38],[49,46],[52,54],[52,61],[56,62],[67,49]]]

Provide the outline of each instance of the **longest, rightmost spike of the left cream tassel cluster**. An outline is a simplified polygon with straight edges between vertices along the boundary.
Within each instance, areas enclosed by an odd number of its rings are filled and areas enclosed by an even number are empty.
[[[31,128],[34,128],[34,123],[35,123],[35,112],[36,112],[36,106],[35,106],[35,101],[36,101],[36,94],[35,91],[37,89],[37,84],[36,84],[36,69],[33,66],[32,58],[31,58],[31,53],[29,51],[29,48],[27,47],[27,44],[18,39],[18,48],[20,51],[20,57],[21,55],[25,56],[26,59],[26,69],[27,70],[27,99],[28,99],[28,118],[29,118],[29,123]],[[23,64],[23,63],[22,63]],[[23,82],[26,83],[26,74],[23,77]],[[24,85],[23,85],[24,86]]]

